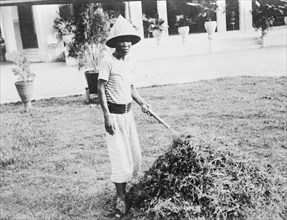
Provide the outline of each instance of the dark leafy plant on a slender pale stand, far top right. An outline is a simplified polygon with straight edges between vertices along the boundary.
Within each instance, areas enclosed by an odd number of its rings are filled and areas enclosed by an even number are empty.
[[[272,4],[260,4],[258,1],[255,2],[255,9],[252,10],[253,16],[253,27],[255,30],[261,31],[259,43],[264,46],[264,38],[268,31],[275,25],[275,15],[283,12]]]

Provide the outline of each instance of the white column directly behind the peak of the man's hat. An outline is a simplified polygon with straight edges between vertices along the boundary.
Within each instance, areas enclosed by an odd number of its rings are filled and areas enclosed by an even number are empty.
[[[125,2],[125,17],[130,20],[133,25],[138,28],[139,34],[143,38],[143,18],[142,18],[142,4],[141,1]]]

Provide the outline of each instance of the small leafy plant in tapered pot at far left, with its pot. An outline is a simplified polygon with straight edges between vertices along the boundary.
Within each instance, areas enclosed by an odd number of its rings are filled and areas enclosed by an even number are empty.
[[[23,55],[18,55],[14,61],[12,72],[17,77],[15,86],[24,104],[25,110],[31,109],[35,74],[30,69],[30,63]]]

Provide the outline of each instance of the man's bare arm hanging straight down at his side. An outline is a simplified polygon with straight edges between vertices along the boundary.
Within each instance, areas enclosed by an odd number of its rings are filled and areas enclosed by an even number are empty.
[[[108,108],[107,97],[105,93],[106,83],[107,82],[105,80],[98,80],[98,97],[104,114],[106,131],[110,135],[113,135],[115,133],[115,126]]]

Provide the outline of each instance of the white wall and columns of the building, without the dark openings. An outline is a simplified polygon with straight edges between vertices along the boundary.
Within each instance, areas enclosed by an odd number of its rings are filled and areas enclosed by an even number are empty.
[[[218,0],[219,9],[217,12],[218,32],[226,31],[226,14],[225,0]],[[128,20],[131,20],[139,27],[141,35],[143,35],[142,22],[142,2],[127,2],[125,3],[125,15]],[[240,30],[252,29],[252,0],[239,0],[239,16]],[[63,52],[63,43],[57,42],[54,37],[56,30],[53,28],[54,19],[58,16],[59,5],[34,5],[33,16],[35,22],[35,30],[39,48],[36,49],[35,59],[43,62],[54,61]],[[167,21],[167,1],[157,1],[157,12],[160,18]],[[13,60],[13,54],[23,50],[21,34],[19,29],[19,18],[17,7],[1,7],[0,8],[0,24],[2,36],[6,43],[6,59]],[[167,24],[168,25],[168,24]],[[168,34],[168,33],[166,33]],[[25,50],[29,55],[29,50]],[[35,52],[35,50],[34,50]]]

